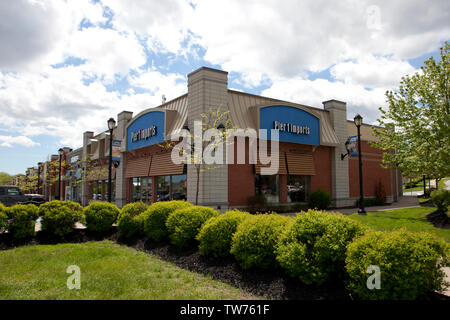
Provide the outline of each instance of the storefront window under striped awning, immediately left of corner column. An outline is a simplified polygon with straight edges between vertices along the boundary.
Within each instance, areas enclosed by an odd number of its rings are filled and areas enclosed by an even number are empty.
[[[156,201],[186,200],[186,175],[156,178]]]

